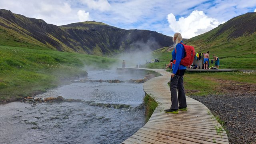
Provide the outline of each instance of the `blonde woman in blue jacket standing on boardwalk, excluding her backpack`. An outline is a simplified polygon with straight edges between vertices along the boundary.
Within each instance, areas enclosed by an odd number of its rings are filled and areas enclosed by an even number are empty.
[[[186,66],[180,65],[181,59],[185,57],[185,50],[184,46],[180,44],[180,42],[182,42],[182,36],[180,33],[175,33],[172,41],[175,44],[175,48],[172,51],[173,63],[170,83],[172,105],[170,109],[164,110],[164,112],[178,114],[178,110],[187,111],[186,95],[183,86],[183,75],[185,74]]]

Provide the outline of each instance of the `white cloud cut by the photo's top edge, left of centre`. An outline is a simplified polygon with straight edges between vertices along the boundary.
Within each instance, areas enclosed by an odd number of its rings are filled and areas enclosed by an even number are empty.
[[[106,11],[110,10],[110,4],[108,0],[80,0],[83,4],[86,4],[89,9]]]

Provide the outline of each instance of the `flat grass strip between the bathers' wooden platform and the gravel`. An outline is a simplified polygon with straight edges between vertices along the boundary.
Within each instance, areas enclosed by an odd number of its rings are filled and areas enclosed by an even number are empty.
[[[224,94],[222,81],[228,84],[256,84],[256,72],[187,72],[184,75],[186,95],[204,96],[209,94]]]

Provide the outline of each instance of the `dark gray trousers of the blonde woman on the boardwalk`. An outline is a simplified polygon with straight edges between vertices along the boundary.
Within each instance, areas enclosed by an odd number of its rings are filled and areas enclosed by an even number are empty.
[[[178,96],[177,96],[177,89],[178,89]],[[178,110],[180,108],[186,108],[186,95],[183,86],[183,76],[175,75],[170,83],[170,91],[171,91],[171,100],[172,106],[170,109]]]

